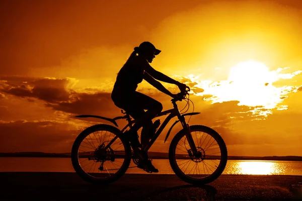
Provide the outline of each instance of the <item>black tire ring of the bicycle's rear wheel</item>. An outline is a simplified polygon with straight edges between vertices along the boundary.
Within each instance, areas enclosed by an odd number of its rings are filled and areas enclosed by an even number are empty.
[[[110,177],[104,178],[104,179],[96,178],[96,177],[88,174],[87,172],[85,172],[85,170],[83,170],[83,168],[81,167],[81,164],[79,162],[79,157],[78,157],[79,148],[80,148],[81,143],[84,141],[84,139],[87,136],[89,136],[90,134],[97,132],[97,131],[106,131],[106,132],[111,132],[111,133],[115,134],[121,140],[121,142],[124,146],[124,149],[125,149],[124,150],[125,158],[121,165],[121,168],[113,176],[110,176]],[[107,124],[98,124],[98,125],[88,127],[87,129],[82,131],[79,134],[79,136],[75,139],[75,141],[72,145],[72,149],[71,149],[71,162],[72,162],[73,169],[83,180],[85,180],[89,183],[93,183],[93,184],[108,184],[108,183],[118,180],[121,176],[124,175],[124,173],[127,171],[128,167],[129,167],[129,164],[131,161],[131,148],[130,148],[129,142],[126,141],[122,136],[120,136],[119,133],[120,133],[120,130],[117,129],[116,127],[113,127],[113,126],[107,125]]]

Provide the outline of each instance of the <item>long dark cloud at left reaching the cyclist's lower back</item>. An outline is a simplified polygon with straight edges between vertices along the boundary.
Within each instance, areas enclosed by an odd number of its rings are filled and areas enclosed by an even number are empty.
[[[69,88],[73,84],[71,79],[21,79],[12,77],[2,82],[0,91],[17,97],[27,98],[34,102],[37,98],[43,100],[47,107],[56,111],[71,114],[109,115],[114,117],[120,113],[111,99],[111,93],[100,92],[100,89],[77,92]]]

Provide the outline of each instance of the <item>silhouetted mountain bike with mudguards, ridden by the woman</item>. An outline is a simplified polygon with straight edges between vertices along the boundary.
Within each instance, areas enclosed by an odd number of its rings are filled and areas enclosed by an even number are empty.
[[[169,147],[168,158],[172,170],[185,182],[206,184],[214,181],[222,174],[228,160],[228,151],[223,139],[215,130],[202,125],[190,126],[186,122],[186,116],[191,118],[193,115],[200,114],[194,113],[194,104],[189,99],[189,91],[190,88],[188,87],[188,90],[178,93],[176,98],[171,99],[173,109],[163,111],[155,117],[168,115],[142,151],[149,150],[169,121],[177,117],[178,120],[170,127],[165,138],[166,142],[172,128],[180,122],[183,129],[174,136]],[[188,106],[189,109],[190,102],[193,104],[192,113],[186,113],[188,109],[182,114],[179,111],[176,102],[183,99],[187,100],[185,108]],[[94,115],[76,116],[79,118],[99,118],[116,126],[93,125],[82,131],[75,139],[71,150],[72,166],[85,181],[93,184],[111,183],[118,180],[126,172],[131,159],[135,165],[138,164],[139,156],[136,153],[139,153],[139,150],[135,151],[138,148],[133,147],[126,140],[124,134],[136,121],[132,120],[123,110],[121,112],[125,115],[113,119]],[[125,119],[128,122],[122,130],[117,128],[116,123],[116,120],[120,119]],[[193,135],[194,133],[195,135]]]

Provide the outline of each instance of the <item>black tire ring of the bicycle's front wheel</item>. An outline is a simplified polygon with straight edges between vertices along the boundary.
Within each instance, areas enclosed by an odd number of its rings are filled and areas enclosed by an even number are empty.
[[[223,172],[225,166],[226,166],[226,162],[228,161],[228,150],[226,149],[226,145],[223,141],[223,139],[221,138],[221,136],[213,129],[206,127],[206,126],[202,126],[202,125],[192,125],[190,126],[190,131],[191,133],[194,131],[199,131],[199,132],[204,132],[208,135],[210,135],[212,138],[214,138],[214,140],[217,141],[217,144],[219,146],[220,149],[220,162],[219,165],[217,167],[217,169],[210,174],[207,177],[204,178],[193,178],[192,176],[185,174],[179,167],[179,165],[177,164],[177,159],[176,159],[176,147],[178,145],[178,142],[185,137],[185,130],[182,129],[181,131],[179,131],[175,137],[173,138],[170,147],[169,147],[169,162],[170,165],[173,169],[173,171],[175,172],[175,174],[182,179],[183,181],[187,182],[187,183],[191,183],[191,184],[206,184],[206,183],[210,183],[212,181],[214,181],[215,179],[217,179]],[[193,136],[192,136],[193,137]],[[197,137],[196,137],[197,139]],[[206,157],[206,156],[205,156]],[[188,159],[190,160],[190,159]],[[203,160],[204,161],[204,160]],[[188,165],[189,166],[189,165]],[[198,167],[199,169],[199,167]],[[196,167],[196,175],[197,175],[197,167]],[[194,174],[194,171],[193,171]]]

